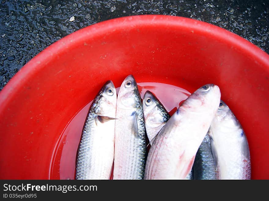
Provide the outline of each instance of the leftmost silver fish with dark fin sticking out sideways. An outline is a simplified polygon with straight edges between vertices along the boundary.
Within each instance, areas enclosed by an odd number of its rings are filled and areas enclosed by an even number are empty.
[[[116,89],[108,81],[93,100],[76,159],[76,179],[109,179],[115,142]]]

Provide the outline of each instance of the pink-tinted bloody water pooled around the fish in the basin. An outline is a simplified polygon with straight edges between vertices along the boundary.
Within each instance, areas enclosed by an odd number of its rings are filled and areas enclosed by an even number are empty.
[[[142,98],[147,90],[151,91],[157,96],[170,115],[179,107],[179,103],[190,95],[187,90],[170,84],[155,82],[137,84]],[[117,94],[119,90],[120,87],[116,88]],[[62,132],[51,160],[50,179],[75,178],[76,152],[91,103],[92,101],[79,110]]]

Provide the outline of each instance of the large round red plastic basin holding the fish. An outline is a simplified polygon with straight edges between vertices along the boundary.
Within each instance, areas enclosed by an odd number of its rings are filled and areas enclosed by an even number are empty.
[[[193,92],[214,83],[243,126],[252,179],[269,179],[269,56],[222,28],[183,17],[104,21],[57,41],[0,92],[1,179],[48,179],[61,133],[107,80],[128,74]]]

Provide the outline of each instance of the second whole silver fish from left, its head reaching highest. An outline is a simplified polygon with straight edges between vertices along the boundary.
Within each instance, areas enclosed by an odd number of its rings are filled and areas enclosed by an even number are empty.
[[[146,164],[146,130],[140,93],[129,75],[117,99],[113,179],[143,179]]]

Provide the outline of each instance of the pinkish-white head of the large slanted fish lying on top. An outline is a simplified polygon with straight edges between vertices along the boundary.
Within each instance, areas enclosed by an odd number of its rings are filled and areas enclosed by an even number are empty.
[[[205,113],[208,108],[213,108],[214,114],[218,109],[220,90],[215,84],[205,84],[193,92],[179,107],[179,109]]]

